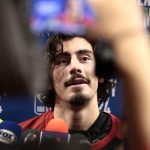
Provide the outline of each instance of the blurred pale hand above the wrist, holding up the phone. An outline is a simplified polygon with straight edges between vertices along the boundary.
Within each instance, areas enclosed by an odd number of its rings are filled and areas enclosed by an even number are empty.
[[[88,0],[97,14],[97,25],[90,30],[95,37],[113,39],[122,32],[143,28],[143,13],[137,0]]]

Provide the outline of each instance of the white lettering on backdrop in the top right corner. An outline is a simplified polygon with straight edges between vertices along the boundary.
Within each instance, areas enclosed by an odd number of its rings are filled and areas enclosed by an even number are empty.
[[[150,0],[138,0],[138,4],[143,7],[145,12],[144,27],[150,32]]]

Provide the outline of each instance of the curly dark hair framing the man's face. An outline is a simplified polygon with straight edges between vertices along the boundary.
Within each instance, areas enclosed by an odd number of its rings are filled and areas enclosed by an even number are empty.
[[[66,35],[66,34],[60,34],[60,33],[52,33],[47,43],[44,47],[44,64],[46,64],[47,67],[47,78],[50,84],[53,84],[53,81],[50,76],[50,70],[52,68],[52,65],[54,64],[55,58],[63,52],[63,41],[67,41],[75,36],[78,35]],[[93,47],[93,50],[95,52],[96,48],[99,48],[100,42],[96,40],[92,40],[90,38],[80,36],[85,38]],[[94,53],[95,54],[95,53]],[[98,105],[102,102],[106,102],[108,97],[111,94],[111,89],[113,86],[115,86],[115,83],[112,80],[108,80],[105,78],[105,76],[100,76],[104,79],[104,82],[98,83]],[[47,107],[51,107],[52,109],[55,106],[55,90],[54,88],[49,88],[46,93],[42,94],[40,96],[41,101],[43,104]]]

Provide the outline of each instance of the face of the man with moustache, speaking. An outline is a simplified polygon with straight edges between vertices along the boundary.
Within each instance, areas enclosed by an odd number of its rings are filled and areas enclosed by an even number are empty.
[[[97,96],[98,78],[91,44],[84,38],[74,37],[63,42],[63,52],[56,58],[52,70],[57,100],[69,102],[84,96]]]

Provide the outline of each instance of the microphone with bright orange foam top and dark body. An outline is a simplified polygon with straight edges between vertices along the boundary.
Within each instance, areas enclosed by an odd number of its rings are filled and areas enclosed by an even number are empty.
[[[40,147],[43,149],[52,147],[52,150],[66,150],[70,139],[67,123],[62,119],[52,119],[40,139]]]

